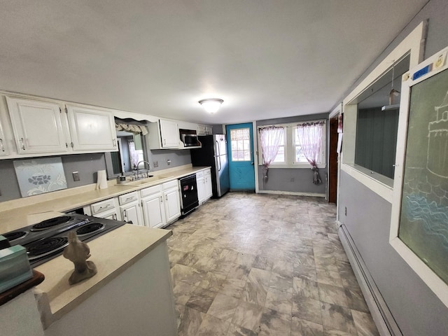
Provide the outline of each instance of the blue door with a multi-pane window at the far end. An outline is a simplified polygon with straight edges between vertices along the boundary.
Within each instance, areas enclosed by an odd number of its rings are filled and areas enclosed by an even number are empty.
[[[255,191],[252,123],[226,125],[230,190]]]

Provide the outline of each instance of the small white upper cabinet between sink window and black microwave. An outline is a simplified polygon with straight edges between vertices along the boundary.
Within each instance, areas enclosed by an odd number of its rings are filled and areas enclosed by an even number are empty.
[[[181,137],[179,125],[173,120],[160,119],[149,125],[150,149],[179,148]]]

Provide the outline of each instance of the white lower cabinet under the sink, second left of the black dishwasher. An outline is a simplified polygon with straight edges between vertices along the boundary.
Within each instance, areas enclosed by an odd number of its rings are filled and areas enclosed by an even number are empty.
[[[153,186],[140,190],[141,207],[145,225],[150,228],[162,228],[167,224],[163,202],[162,186]]]

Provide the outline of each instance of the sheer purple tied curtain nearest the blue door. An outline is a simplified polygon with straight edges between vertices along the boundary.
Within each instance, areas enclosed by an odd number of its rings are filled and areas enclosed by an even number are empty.
[[[278,126],[262,127],[258,132],[260,133],[262,163],[265,166],[265,175],[263,177],[267,180],[269,165],[274,161],[277,153],[279,153],[284,128]]]

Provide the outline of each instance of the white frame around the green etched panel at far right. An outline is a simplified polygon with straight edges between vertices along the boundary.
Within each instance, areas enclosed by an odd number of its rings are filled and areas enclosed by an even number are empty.
[[[448,307],[448,284],[440,279],[435,272],[433,272],[425,262],[423,262],[406,244],[404,244],[398,237],[399,224],[400,224],[400,210],[401,210],[401,197],[402,197],[402,183],[403,183],[403,169],[405,165],[405,152],[407,143],[407,127],[409,117],[409,100],[411,87],[415,84],[421,83],[423,80],[434,76],[442,71],[448,71],[447,60],[445,59],[444,66],[439,69],[433,69],[426,75],[412,80],[412,74],[419,69],[423,69],[428,64],[432,64],[437,59],[438,55],[448,52],[448,47],[440,50],[435,55],[428,57],[424,62],[421,62],[418,66],[409,70],[408,73],[403,75],[403,78],[410,78],[403,81],[401,87],[401,99],[400,99],[400,118],[398,121],[398,137],[397,137],[397,153],[395,156],[395,180],[393,184],[393,203],[391,214],[391,230],[389,243],[395,251],[407,262],[407,264],[420,276],[420,278],[426,283],[426,285],[433,290],[435,295]]]

